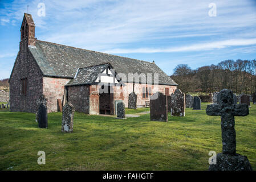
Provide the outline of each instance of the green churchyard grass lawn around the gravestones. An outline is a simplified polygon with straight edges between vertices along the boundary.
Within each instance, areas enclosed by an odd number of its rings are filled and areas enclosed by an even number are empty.
[[[222,144],[221,119],[206,115],[206,105],[169,122],[75,113],[71,134],[60,131],[62,113],[48,114],[48,129],[39,129],[35,114],[0,111],[0,170],[208,170],[209,151]],[[235,117],[235,129],[237,152],[256,169],[256,105]],[[38,151],[46,165],[37,163]]]

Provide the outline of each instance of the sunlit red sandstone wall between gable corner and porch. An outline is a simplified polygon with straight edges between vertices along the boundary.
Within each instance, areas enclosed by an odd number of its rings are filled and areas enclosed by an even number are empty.
[[[60,99],[63,102],[64,86],[70,79],[66,78],[43,78],[43,94],[47,98],[48,113],[57,112],[58,105],[57,100]]]

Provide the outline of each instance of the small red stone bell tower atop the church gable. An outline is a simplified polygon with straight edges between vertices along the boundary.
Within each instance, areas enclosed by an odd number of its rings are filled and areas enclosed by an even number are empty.
[[[35,23],[32,15],[27,13],[24,13],[21,25],[21,43],[24,41],[26,46],[35,46]]]

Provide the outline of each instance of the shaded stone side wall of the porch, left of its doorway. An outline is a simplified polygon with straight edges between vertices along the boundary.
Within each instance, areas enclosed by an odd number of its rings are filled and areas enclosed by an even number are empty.
[[[89,114],[89,88],[89,85],[68,86],[68,102],[75,107],[76,111]]]

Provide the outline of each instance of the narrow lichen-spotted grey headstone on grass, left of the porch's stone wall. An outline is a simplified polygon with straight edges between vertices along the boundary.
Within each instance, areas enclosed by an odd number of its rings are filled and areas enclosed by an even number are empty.
[[[74,113],[75,113],[75,107],[69,102],[63,106],[62,132],[66,132],[66,133],[73,132]]]

